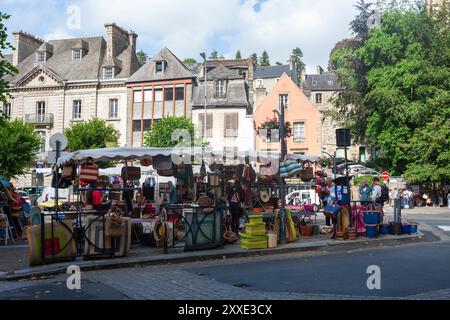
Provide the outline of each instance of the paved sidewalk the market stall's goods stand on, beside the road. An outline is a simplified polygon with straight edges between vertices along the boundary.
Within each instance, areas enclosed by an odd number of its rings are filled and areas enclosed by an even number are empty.
[[[81,270],[103,270],[144,265],[175,264],[205,260],[229,259],[238,257],[252,257],[261,255],[286,254],[307,251],[338,251],[354,250],[369,247],[409,244],[420,241],[423,234],[403,236],[380,236],[377,239],[360,237],[358,240],[336,241],[330,235],[314,236],[301,239],[294,243],[278,246],[275,249],[243,250],[239,245],[227,245],[223,249],[184,252],[183,248],[170,249],[169,254],[163,254],[163,249],[138,246],[131,250],[128,257],[83,260],[81,257],[75,261],[28,267],[28,253],[26,246],[0,247],[0,281],[31,279],[53,276],[66,273],[69,265],[76,264]],[[10,261],[9,261],[10,260]],[[14,262],[15,261],[15,262]]]

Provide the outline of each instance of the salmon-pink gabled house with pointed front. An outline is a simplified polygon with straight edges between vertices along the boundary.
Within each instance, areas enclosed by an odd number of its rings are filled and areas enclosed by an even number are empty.
[[[255,127],[268,118],[274,117],[274,109],[285,107],[285,121],[290,122],[291,137],[287,139],[288,153],[321,155],[321,114],[309,101],[300,88],[287,74],[283,74],[275,88],[256,106],[254,112]],[[279,151],[279,141],[267,141],[260,134],[255,135],[257,151]]]

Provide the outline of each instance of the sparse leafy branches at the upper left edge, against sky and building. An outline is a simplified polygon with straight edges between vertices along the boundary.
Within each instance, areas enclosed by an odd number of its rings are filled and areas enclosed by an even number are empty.
[[[0,102],[6,103],[8,98],[8,89],[9,83],[4,79],[6,75],[15,75],[17,74],[17,69],[14,66],[6,61],[3,52],[5,50],[14,50],[11,43],[7,41],[8,38],[8,29],[5,26],[4,21],[9,19],[10,15],[2,13],[0,11]],[[0,108],[0,121],[3,119],[3,110]]]

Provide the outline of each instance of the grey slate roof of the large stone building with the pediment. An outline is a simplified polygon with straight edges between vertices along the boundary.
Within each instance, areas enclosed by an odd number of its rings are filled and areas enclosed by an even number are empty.
[[[81,40],[85,43],[84,46],[88,48],[88,51],[80,61],[72,61],[72,49],[82,43]],[[106,41],[103,37],[51,40],[48,44],[53,46],[53,54],[42,65],[65,81],[102,79],[101,67],[107,60]],[[115,74],[115,78],[128,78],[139,67],[136,54],[131,46],[120,53],[115,60],[121,64],[121,70]],[[116,63],[119,63],[118,61]],[[16,66],[19,70],[18,75],[5,77],[5,79],[15,83],[36,66],[36,56],[35,53],[32,53]]]

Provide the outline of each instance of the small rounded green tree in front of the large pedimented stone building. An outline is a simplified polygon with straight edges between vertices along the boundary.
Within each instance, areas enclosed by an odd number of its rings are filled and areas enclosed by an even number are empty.
[[[72,123],[64,130],[70,151],[105,148],[106,142],[117,142],[119,132],[105,120],[93,118],[86,122]]]

